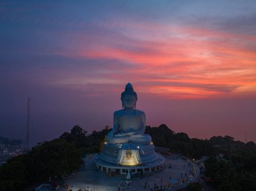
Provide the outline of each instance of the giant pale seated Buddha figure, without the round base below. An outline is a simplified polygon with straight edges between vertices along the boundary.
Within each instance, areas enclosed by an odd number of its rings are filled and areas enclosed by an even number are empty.
[[[127,83],[125,91],[121,94],[123,110],[114,112],[113,129],[108,132],[108,144],[133,143],[149,145],[150,135],[144,134],[146,128],[145,113],[136,110],[137,93],[133,91],[131,83]]]

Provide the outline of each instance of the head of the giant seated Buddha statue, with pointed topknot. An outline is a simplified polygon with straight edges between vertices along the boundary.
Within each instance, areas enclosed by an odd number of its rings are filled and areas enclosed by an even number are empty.
[[[136,108],[137,93],[133,91],[133,85],[127,83],[125,91],[121,94],[123,108]]]

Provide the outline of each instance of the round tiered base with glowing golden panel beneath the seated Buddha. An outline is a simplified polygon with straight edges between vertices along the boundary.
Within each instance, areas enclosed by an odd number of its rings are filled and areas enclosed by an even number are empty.
[[[154,151],[154,145],[105,144],[94,157],[98,169],[115,174],[136,174],[159,171],[164,157]]]

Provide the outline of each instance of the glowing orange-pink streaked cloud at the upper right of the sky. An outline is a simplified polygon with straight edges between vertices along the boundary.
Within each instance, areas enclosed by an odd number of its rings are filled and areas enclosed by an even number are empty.
[[[141,30],[139,25],[134,26]],[[156,30],[150,25],[142,25]],[[142,91],[170,98],[211,98],[237,93],[256,93],[255,36],[230,34],[204,28],[158,26],[170,32],[164,40],[119,42],[113,38],[102,44],[68,54],[97,61],[118,61],[136,67],[107,69],[98,81],[131,81],[143,84]],[[107,63],[106,63],[107,64]],[[88,80],[86,80],[88,81]],[[86,83],[85,81],[85,83]],[[95,81],[90,79],[90,81]],[[170,85],[168,83],[178,83]],[[183,85],[181,85],[183,84]],[[180,86],[179,86],[180,85]]]

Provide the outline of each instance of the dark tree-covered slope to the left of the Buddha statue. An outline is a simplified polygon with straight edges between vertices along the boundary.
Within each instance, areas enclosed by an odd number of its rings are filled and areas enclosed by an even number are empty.
[[[65,176],[82,165],[85,153],[99,151],[108,128],[86,136],[87,131],[74,126],[59,139],[38,143],[27,155],[9,159],[0,167],[0,190],[24,190],[35,182],[48,181],[51,176]]]

